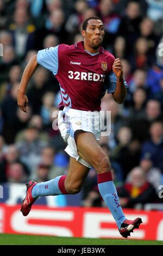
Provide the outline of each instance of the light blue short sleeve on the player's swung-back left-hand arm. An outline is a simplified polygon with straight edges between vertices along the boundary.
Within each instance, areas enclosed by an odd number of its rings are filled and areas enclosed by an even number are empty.
[[[58,46],[49,47],[37,52],[37,62],[44,68],[57,75],[58,72]]]

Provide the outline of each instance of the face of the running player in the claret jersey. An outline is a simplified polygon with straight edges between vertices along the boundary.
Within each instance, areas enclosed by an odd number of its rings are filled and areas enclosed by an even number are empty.
[[[104,33],[104,25],[101,20],[89,20],[86,31],[82,31],[85,43],[93,49],[97,49],[102,44]]]

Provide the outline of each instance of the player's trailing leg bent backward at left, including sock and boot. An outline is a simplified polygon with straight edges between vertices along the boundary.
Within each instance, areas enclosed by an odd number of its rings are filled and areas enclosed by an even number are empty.
[[[22,202],[21,211],[27,216],[36,198],[43,195],[76,194],[80,191],[89,172],[89,168],[70,157],[67,176],[62,175],[53,180],[36,183],[27,182],[27,194]]]

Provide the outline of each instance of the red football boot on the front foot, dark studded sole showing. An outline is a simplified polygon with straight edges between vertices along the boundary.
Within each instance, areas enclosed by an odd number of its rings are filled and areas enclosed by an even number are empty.
[[[129,219],[126,219],[126,221],[124,221],[121,224],[121,228],[119,229],[120,234],[127,238],[128,236],[130,236],[130,233],[133,233],[134,229],[139,229],[140,224],[142,223],[141,218],[136,218],[134,219],[134,221],[130,221]]]

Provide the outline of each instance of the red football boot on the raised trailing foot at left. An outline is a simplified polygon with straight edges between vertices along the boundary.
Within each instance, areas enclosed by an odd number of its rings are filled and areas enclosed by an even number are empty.
[[[34,203],[34,201],[37,199],[37,198],[33,198],[32,197],[32,189],[33,187],[37,184],[36,181],[28,181],[26,183],[26,186],[27,186],[27,193],[26,193],[26,197],[24,198],[24,200],[22,201],[22,204],[21,204],[21,212],[22,212],[22,215],[23,216],[27,216],[28,213],[30,212],[31,210],[31,207]]]

